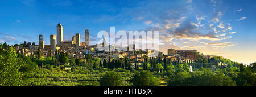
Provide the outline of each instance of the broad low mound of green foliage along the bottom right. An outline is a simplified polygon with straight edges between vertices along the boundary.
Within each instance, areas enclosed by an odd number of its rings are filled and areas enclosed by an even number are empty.
[[[202,69],[196,72],[179,72],[168,81],[170,86],[235,86],[236,82],[224,73]]]

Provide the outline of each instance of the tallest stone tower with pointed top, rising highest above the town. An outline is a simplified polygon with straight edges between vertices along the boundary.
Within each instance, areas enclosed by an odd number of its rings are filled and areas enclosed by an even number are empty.
[[[59,23],[57,25],[57,46],[63,41],[63,26]]]

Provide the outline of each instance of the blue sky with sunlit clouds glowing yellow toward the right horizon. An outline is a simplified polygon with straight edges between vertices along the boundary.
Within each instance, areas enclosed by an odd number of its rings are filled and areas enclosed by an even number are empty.
[[[63,25],[64,40],[101,30],[159,30],[160,51],[196,49],[239,63],[256,61],[255,0],[1,0],[0,43],[45,44]]]

